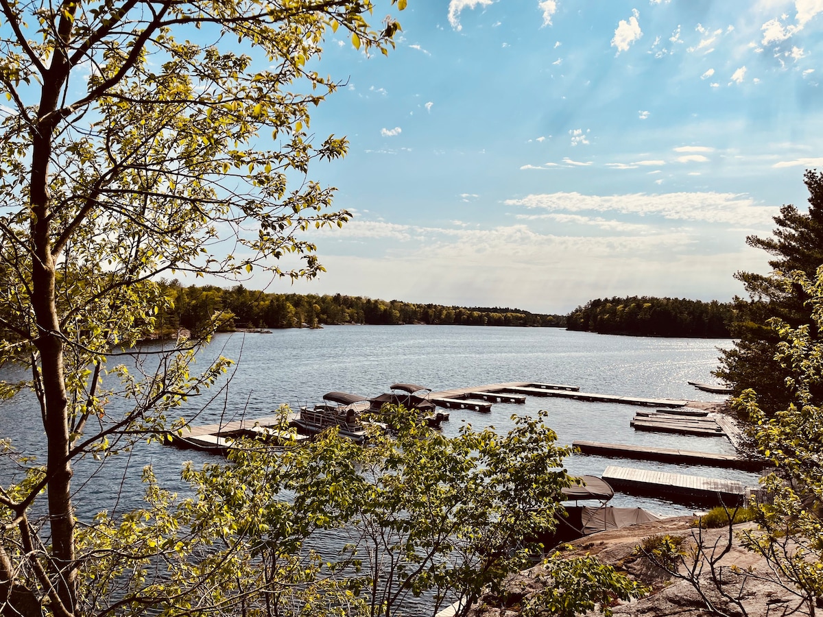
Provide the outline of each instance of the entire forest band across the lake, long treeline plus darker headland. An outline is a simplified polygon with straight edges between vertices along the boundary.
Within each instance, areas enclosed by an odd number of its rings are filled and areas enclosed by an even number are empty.
[[[353,295],[277,294],[216,285],[160,283],[167,299],[156,322],[157,333],[180,328],[199,332],[218,318],[220,332],[359,325],[454,325],[567,327],[569,330],[627,336],[732,336],[733,305],[717,300],[626,296],[589,300],[568,315],[531,313],[521,308],[459,307]]]

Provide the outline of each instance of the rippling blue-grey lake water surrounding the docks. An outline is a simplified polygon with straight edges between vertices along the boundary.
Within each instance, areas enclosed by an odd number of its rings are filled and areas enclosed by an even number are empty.
[[[159,344],[158,344],[159,345]],[[195,424],[219,418],[255,418],[269,415],[281,403],[293,408],[321,400],[332,390],[375,396],[396,382],[421,383],[433,390],[480,386],[500,382],[566,383],[584,392],[635,397],[663,397],[720,401],[723,397],[700,392],[686,382],[714,383],[718,347],[731,341],[603,336],[556,328],[460,326],[337,326],[319,330],[292,329],[272,333],[235,333],[215,337],[202,354],[201,364],[214,355],[237,360],[221,388],[193,397],[183,413],[199,413]],[[0,437],[14,438],[21,449],[40,450],[40,413],[31,400],[0,405]],[[491,414],[452,410],[444,423],[446,434],[456,434],[469,422],[494,426],[501,433],[513,425],[510,416],[549,412],[548,423],[559,443],[588,439],[609,443],[636,443],[703,452],[732,453],[725,438],[686,437],[635,432],[630,420],[638,407],[528,397],[525,405],[495,403]],[[140,470],[151,463],[165,485],[179,486],[182,463],[215,460],[202,452],[179,451],[157,444],[138,444],[133,452],[105,466],[81,462],[74,487],[78,515],[90,517],[101,508],[139,505]],[[756,484],[756,476],[741,471],[681,467],[655,462],[615,461],[603,457],[567,459],[572,474],[599,476],[610,464],[693,473]],[[16,473],[0,466],[0,481]],[[182,488],[182,487],[181,487]],[[119,496],[117,501],[116,495]],[[690,512],[671,503],[617,494],[616,506],[641,505],[661,514]]]

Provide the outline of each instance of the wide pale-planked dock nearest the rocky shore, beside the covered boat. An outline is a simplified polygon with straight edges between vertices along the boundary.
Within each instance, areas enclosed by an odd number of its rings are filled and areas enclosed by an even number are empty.
[[[621,493],[668,499],[675,503],[714,507],[734,507],[751,494],[742,482],[702,476],[686,476],[665,471],[610,465],[602,475],[611,488]]]

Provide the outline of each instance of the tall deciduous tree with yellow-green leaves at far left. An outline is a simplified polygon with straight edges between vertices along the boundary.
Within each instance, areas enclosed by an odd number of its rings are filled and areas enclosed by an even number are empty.
[[[0,601],[92,611],[78,596],[94,555],[78,553],[72,462],[174,428],[167,414],[226,367],[189,373],[186,345],[145,379],[111,366],[165,302],[153,277],[322,270],[300,233],[348,214],[328,211],[332,188],[309,165],[344,155],[346,140],[309,134],[309,109],[337,86],[309,66],[332,30],[385,52],[399,26],[373,30],[372,9],[0,0],[0,363],[30,374],[0,391],[33,392],[44,427],[42,466],[18,459],[25,479],[0,492]],[[304,261],[281,266],[290,254]],[[32,508],[48,514],[42,530]]]

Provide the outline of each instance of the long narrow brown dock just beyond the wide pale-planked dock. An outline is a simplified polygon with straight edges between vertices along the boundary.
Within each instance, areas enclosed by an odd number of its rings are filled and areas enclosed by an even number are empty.
[[[716,454],[714,452],[695,452],[675,448],[653,448],[628,443],[600,443],[594,441],[575,441],[574,448],[581,454],[610,458],[633,458],[639,461],[658,461],[677,465],[703,465],[741,471],[762,471],[768,465],[765,461],[738,457],[736,454]]]

